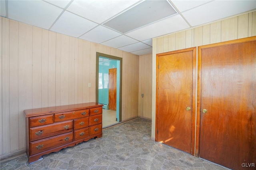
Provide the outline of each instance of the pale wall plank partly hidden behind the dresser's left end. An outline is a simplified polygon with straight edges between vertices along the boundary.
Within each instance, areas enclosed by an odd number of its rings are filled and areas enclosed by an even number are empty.
[[[32,108],[32,26],[19,22],[18,36],[18,119],[19,150],[26,148],[23,111]]]

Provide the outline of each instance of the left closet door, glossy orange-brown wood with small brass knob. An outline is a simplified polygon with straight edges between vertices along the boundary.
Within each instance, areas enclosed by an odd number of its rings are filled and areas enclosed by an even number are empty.
[[[156,141],[188,153],[194,144],[193,49],[157,57]]]

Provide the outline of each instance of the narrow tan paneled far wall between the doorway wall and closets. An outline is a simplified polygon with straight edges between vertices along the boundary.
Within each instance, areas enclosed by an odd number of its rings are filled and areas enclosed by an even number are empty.
[[[141,94],[144,94],[142,99]],[[140,55],[138,116],[152,119],[152,54]],[[142,109],[143,108],[143,109]]]

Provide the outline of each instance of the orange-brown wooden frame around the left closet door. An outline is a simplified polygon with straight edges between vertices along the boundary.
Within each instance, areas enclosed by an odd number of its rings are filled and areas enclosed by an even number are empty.
[[[197,57],[196,57],[196,47],[180,49],[176,51],[170,51],[166,53],[158,53],[156,54],[156,131],[155,131],[155,141],[158,140],[158,64],[159,57],[163,55],[170,55],[174,53],[188,52],[193,51],[193,83],[192,83],[192,125],[191,125],[191,155],[195,154],[195,138],[196,138],[196,81],[197,81]]]

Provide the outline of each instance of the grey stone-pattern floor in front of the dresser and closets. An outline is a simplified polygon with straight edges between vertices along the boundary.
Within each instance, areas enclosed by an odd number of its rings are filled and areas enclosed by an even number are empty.
[[[151,121],[135,119],[103,130],[102,138],[44,155],[1,162],[1,170],[227,170],[151,139]]]

